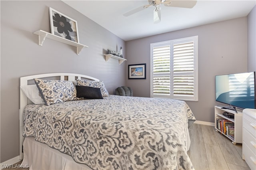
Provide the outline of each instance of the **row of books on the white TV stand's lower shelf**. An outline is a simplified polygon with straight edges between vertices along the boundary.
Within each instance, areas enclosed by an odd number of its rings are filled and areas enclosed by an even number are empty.
[[[220,132],[234,140],[234,122],[224,119],[223,117],[216,117],[216,127]]]

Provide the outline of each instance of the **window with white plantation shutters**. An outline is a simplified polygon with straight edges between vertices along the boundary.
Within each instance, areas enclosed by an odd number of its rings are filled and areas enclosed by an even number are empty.
[[[198,36],[150,44],[150,97],[198,101]]]

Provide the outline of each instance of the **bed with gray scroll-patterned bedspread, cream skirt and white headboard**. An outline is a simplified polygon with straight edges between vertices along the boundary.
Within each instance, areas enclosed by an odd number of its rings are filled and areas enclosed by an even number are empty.
[[[34,88],[35,82],[44,96],[45,83],[55,79],[68,83],[61,87],[66,91],[72,86],[71,91],[77,96],[81,94],[80,87],[88,95],[90,86],[94,87],[90,91],[95,90],[100,97],[68,97],[53,103],[45,98],[41,104],[28,99],[31,96],[24,90],[26,87]],[[20,77],[22,164],[28,164],[30,170],[194,169],[187,151],[188,127],[195,117],[184,101],[109,95],[104,83],[95,86],[99,82],[102,81],[72,73]],[[57,92],[46,93],[49,97]]]

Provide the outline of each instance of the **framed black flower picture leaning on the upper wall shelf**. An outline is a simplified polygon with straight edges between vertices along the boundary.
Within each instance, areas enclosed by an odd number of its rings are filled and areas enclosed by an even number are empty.
[[[52,34],[79,43],[76,20],[49,8]]]

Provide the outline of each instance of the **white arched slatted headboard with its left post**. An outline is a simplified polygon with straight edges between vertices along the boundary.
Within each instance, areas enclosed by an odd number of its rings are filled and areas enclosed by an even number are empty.
[[[82,75],[82,74],[75,74],[75,73],[48,73],[48,74],[38,74],[38,75],[30,75],[26,77],[20,77],[20,86],[29,86],[31,81],[33,82],[33,79],[40,78],[40,79],[46,79],[48,77],[54,77],[56,80],[68,80],[68,81],[75,81],[77,79],[88,79],[88,80],[94,80],[94,81],[100,81],[99,79],[96,79],[94,77],[90,77],[88,75]],[[22,152],[22,145],[24,141],[23,137],[23,112],[26,107],[26,105],[32,103],[26,95],[23,93],[23,91],[20,89],[20,109],[19,109],[19,119],[20,119],[20,160],[23,159],[23,152]]]

